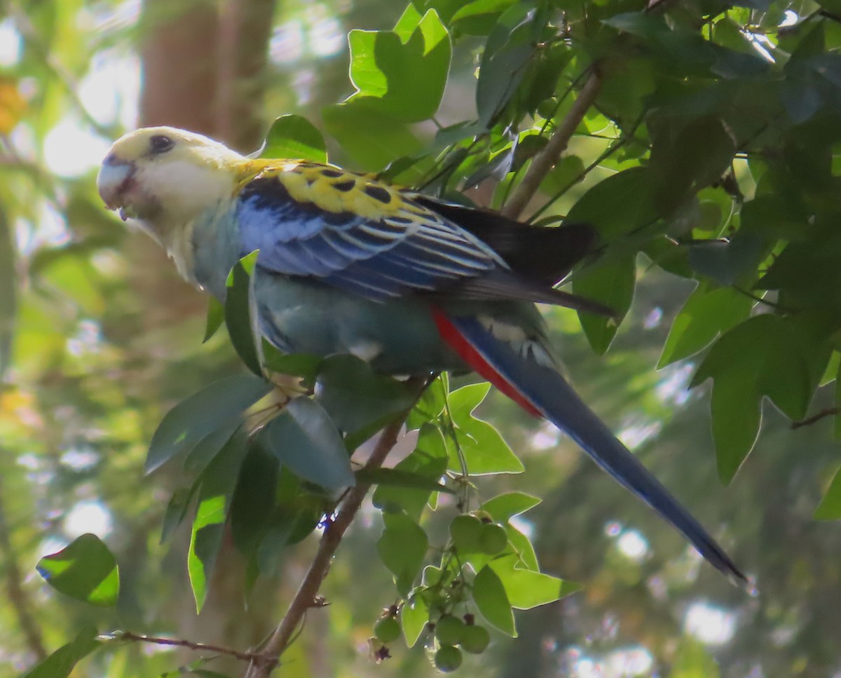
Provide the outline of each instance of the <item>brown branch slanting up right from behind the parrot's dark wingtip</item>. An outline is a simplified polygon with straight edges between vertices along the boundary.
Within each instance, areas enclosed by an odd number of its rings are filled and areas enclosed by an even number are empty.
[[[600,89],[601,77],[599,72],[593,68],[587,81],[584,82],[584,87],[581,87],[578,98],[575,99],[575,103],[569,109],[569,113],[561,120],[561,124],[558,125],[558,129],[555,130],[547,145],[534,157],[526,176],[517,186],[510,201],[500,210],[503,215],[516,219],[521,215],[523,209],[526,209],[526,205],[537,193],[537,188],[540,187],[543,177],[546,177],[547,173],[558,162],[561,153],[566,150],[575,128],[581,124],[584,114],[590,109]]]

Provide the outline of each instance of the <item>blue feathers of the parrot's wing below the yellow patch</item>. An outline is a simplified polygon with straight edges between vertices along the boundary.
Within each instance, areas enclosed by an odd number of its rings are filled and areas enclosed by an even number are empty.
[[[274,273],[319,278],[383,300],[430,291],[507,265],[460,226],[418,205],[368,219],[295,200],[281,177],[257,177],[236,208],[242,252]]]

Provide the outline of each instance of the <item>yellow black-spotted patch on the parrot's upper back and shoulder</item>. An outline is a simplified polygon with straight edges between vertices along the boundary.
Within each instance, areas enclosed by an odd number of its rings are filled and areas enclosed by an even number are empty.
[[[303,209],[351,214],[368,220],[440,221],[413,193],[370,174],[305,160],[251,161],[237,187],[239,198],[263,207],[294,203]]]

